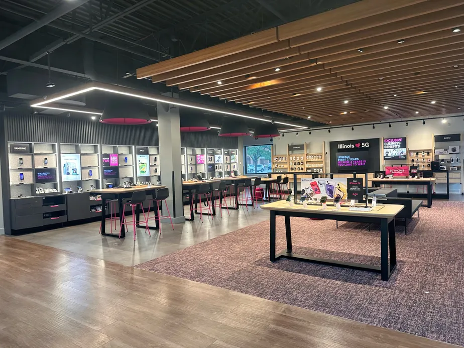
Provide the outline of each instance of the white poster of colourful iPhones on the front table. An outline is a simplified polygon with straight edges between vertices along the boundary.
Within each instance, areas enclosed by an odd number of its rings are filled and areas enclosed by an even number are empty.
[[[346,200],[348,196],[346,180],[346,178],[301,178],[301,194],[310,199],[320,199],[323,196],[333,199],[339,196],[342,200]]]

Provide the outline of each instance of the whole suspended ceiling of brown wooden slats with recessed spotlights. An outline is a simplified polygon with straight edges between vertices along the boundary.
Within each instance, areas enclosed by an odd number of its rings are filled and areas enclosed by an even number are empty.
[[[463,34],[464,0],[364,0],[137,77],[334,126],[426,118],[464,111]]]

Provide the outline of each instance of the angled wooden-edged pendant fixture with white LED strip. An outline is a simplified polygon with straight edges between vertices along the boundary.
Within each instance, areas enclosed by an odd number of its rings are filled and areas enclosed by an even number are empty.
[[[87,93],[90,91],[94,90],[100,90],[100,91],[105,91],[109,93],[115,93],[115,94],[121,94],[121,95],[127,95],[127,96],[132,96],[134,98],[139,98],[139,99],[145,99],[145,100],[153,100],[153,101],[159,101],[159,102],[165,102],[173,105],[178,105],[178,106],[185,106],[185,107],[191,107],[199,110],[204,110],[204,111],[210,111],[210,112],[216,112],[220,114],[225,114],[225,115],[231,115],[231,116],[237,116],[237,117],[242,117],[245,119],[252,119],[252,120],[258,120],[262,122],[269,122],[271,123],[271,120],[265,119],[265,118],[260,118],[256,116],[252,116],[250,114],[247,114],[245,112],[241,111],[230,111],[226,108],[220,108],[220,107],[213,107],[213,106],[208,106],[200,103],[194,103],[194,102],[189,102],[189,101],[184,101],[180,100],[177,98],[173,97],[167,97],[164,95],[158,95],[158,94],[153,94],[153,93],[148,93],[144,91],[139,91],[136,89],[128,88],[128,87],[122,87],[122,86],[117,86],[117,85],[112,85],[112,84],[107,84],[107,83],[101,83],[101,82],[90,82],[88,84],[85,84],[84,86],[79,86],[77,88],[71,88],[65,91],[62,91],[60,93],[54,93],[47,98],[39,98],[36,100],[33,100],[31,102],[31,107],[39,107],[39,108],[48,108],[47,104],[53,103],[55,101],[61,100],[61,99],[66,99],[75,95]],[[307,127],[299,126],[299,125],[294,125],[290,123],[285,123],[285,122],[280,122],[276,121],[275,122],[278,125],[284,125],[284,126],[290,126],[290,127],[295,127],[298,129],[306,129]]]

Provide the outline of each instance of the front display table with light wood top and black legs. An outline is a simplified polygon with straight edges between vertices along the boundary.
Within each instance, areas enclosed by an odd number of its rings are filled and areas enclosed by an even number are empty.
[[[271,211],[269,246],[270,261],[274,262],[279,258],[288,258],[294,260],[310,261],[324,265],[378,272],[381,273],[382,280],[387,281],[396,269],[395,215],[398,214],[403,208],[404,206],[399,204],[384,204],[377,205],[372,211],[351,211],[348,207],[342,207],[340,210],[336,210],[334,206],[328,206],[327,209],[322,209],[321,205],[308,205],[307,207],[303,207],[303,205],[295,204],[294,206],[289,206],[289,203],[284,200],[263,204],[261,205],[261,209],[267,209]],[[285,234],[287,237],[287,250],[279,254],[276,254],[277,215],[285,217]],[[313,217],[319,219],[380,224],[380,266],[293,254],[290,217]]]

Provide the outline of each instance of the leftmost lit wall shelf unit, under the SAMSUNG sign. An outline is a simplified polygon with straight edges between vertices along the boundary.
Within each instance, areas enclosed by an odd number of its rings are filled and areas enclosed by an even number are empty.
[[[8,143],[10,198],[59,192],[57,144]]]

